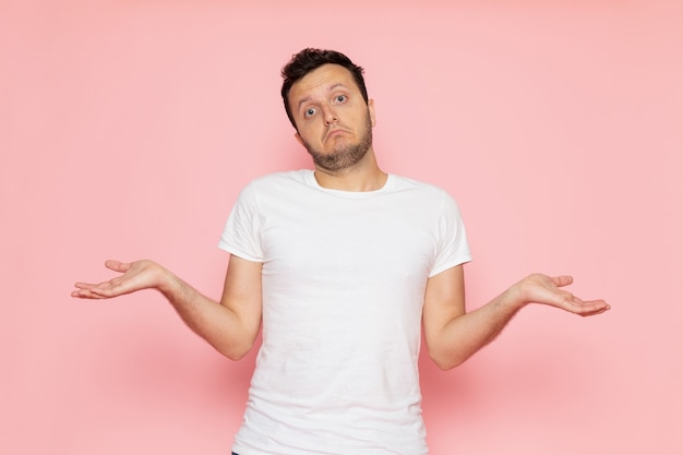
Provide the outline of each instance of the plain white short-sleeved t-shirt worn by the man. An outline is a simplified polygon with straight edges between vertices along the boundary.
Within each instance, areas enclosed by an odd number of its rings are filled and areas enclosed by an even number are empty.
[[[455,201],[393,175],[347,192],[312,170],[274,173],[244,188],[219,246],[263,263],[263,345],[232,450],[427,454],[427,279],[470,260]]]

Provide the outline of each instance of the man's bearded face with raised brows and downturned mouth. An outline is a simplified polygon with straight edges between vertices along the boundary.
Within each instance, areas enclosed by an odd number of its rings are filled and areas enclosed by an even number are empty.
[[[372,147],[373,101],[366,104],[344,67],[324,64],[289,91],[299,142],[317,168],[338,171],[360,161]]]

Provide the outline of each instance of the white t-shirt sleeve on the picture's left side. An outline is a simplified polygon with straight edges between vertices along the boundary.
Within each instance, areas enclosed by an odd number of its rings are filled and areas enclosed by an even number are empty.
[[[248,261],[263,262],[261,226],[259,200],[252,182],[240,192],[220,236],[218,248]]]

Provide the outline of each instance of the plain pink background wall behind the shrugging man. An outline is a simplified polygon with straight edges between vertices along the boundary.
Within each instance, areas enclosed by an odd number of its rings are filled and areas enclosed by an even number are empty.
[[[444,3],[2,2],[0,453],[229,453],[253,354],[69,292],[151,258],[219,296],[239,189],[310,166],[279,99],[307,46],[366,67],[383,168],[460,203],[470,308],[535,271],[613,307],[423,359],[431,453],[683,453],[681,3]]]

